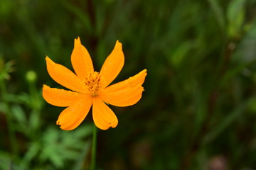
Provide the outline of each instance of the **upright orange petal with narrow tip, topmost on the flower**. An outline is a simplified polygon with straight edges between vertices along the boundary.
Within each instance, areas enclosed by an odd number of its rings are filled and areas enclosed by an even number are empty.
[[[75,74],[77,74],[80,79],[85,79],[88,74],[94,72],[92,59],[86,48],[81,44],[79,37],[78,39],[75,39],[71,62]]]

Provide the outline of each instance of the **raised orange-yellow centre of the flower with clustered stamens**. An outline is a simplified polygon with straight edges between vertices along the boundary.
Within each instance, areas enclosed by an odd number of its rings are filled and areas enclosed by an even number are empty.
[[[92,93],[92,97],[98,95],[100,89],[100,74],[98,72],[90,73],[88,77],[85,77],[85,85]]]

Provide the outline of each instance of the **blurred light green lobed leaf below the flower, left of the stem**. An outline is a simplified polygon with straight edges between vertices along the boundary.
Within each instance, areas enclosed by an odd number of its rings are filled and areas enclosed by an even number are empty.
[[[92,125],[80,125],[72,131],[48,128],[43,134],[43,147],[39,157],[41,162],[51,162],[60,169],[67,160],[77,160],[81,157],[81,150],[88,144],[85,137],[91,135],[91,132]]]

